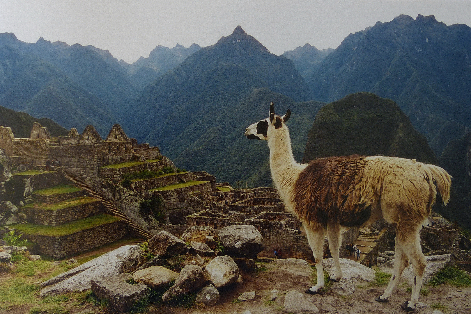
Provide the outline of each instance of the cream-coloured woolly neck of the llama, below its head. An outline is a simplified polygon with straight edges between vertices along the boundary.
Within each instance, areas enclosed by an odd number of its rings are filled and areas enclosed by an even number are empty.
[[[288,128],[283,126],[268,138],[270,170],[273,183],[288,210],[291,210],[292,187],[306,168],[294,160]]]

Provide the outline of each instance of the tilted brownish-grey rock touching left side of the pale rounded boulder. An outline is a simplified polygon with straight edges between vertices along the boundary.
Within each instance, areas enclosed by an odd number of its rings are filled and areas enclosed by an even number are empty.
[[[185,294],[195,292],[200,290],[203,287],[205,282],[203,270],[200,266],[196,265],[187,265],[185,266],[175,284],[162,296],[162,301],[167,302],[173,298],[179,298]]]

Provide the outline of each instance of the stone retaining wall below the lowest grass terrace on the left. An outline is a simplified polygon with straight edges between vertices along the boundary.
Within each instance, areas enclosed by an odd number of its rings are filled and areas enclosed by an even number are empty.
[[[65,258],[117,241],[125,235],[126,224],[119,220],[61,237],[28,234],[25,234],[24,237],[31,242],[38,243],[41,254],[53,258]]]

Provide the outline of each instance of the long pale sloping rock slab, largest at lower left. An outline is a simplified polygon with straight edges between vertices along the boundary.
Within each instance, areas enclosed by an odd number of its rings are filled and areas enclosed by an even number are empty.
[[[100,275],[131,273],[146,261],[142,253],[138,245],[124,245],[112,250],[42,282],[40,286],[44,289],[41,290],[40,296],[88,290],[90,280]]]

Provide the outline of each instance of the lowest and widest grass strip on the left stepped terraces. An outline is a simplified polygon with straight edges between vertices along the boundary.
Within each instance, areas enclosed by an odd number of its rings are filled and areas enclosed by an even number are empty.
[[[19,233],[60,237],[63,235],[73,234],[82,230],[94,228],[99,225],[106,225],[118,220],[120,220],[120,218],[118,217],[107,214],[101,214],[97,216],[79,219],[55,227],[52,227],[50,225],[36,225],[31,223],[16,224],[11,225],[11,227],[15,228]]]

